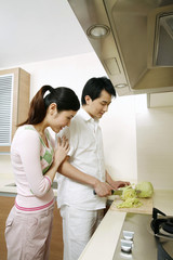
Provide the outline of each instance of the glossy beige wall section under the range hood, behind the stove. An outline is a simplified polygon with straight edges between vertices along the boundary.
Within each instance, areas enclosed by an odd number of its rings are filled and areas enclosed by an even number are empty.
[[[136,114],[138,181],[173,190],[173,107]]]

